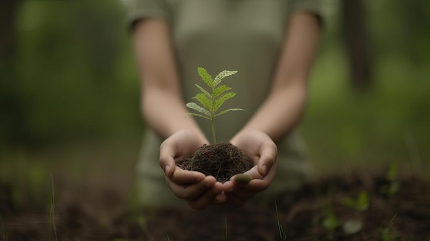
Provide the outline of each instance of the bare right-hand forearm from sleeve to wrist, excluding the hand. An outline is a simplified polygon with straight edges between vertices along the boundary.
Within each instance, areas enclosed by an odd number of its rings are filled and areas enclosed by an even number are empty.
[[[293,14],[287,33],[271,92],[256,114],[233,137],[233,142],[250,130],[260,130],[273,141],[279,141],[299,122],[304,112],[308,74],[317,51],[317,18],[313,14]]]

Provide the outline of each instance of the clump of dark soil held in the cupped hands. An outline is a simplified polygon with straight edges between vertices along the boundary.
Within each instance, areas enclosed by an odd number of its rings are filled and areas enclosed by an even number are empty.
[[[250,170],[253,162],[236,146],[220,142],[201,146],[192,157],[178,160],[177,165],[184,170],[214,176],[220,183],[225,183],[231,176]]]

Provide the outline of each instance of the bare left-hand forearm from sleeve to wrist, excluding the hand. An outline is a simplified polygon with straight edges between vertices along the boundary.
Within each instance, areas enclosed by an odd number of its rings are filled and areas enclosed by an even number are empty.
[[[166,139],[178,130],[205,136],[187,110],[181,95],[179,75],[174,63],[168,25],[147,19],[135,25],[133,41],[141,79],[142,113],[150,128]]]

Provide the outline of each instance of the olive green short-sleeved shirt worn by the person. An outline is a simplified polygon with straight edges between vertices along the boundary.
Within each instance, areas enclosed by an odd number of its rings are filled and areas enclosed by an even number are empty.
[[[223,80],[236,92],[223,108],[245,111],[216,117],[217,141],[229,141],[269,94],[291,12],[320,16],[317,0],[129,0],[128,3],[130,25],[145,18],[166,19],[170,24],[185,103],[193,101],[192,97],[199,92],[194,85],[201,83],[197,67],[204,67],[212,76],[223,70],[238,71]],[[202,118],[196,121],[211,139],[210,122]],[[139,198],[145,205],[183,203],[166,185],[159,167],[160,144],[161,139],[152,130],[146,130],[137,165]],[[273,200],[282,190],[297,188],[310,171],[304,146],[295,132],[278,143],[277,161],[275,180],[258,198]]]

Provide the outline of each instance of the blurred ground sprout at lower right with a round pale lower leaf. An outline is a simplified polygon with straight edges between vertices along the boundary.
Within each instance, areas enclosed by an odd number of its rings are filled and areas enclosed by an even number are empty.
[[[353,234],[358,233],[363,228],[363,217],[362,214],[364,211],[369,208],[369,195],[367,192],[363,191],[359,194],[357,199],[354,198],[344,198],[341,203],[346,207],[350,207],[359,213],[360,218],[355,219],[352,218],[347,220],[343,224],[343,233]]]

